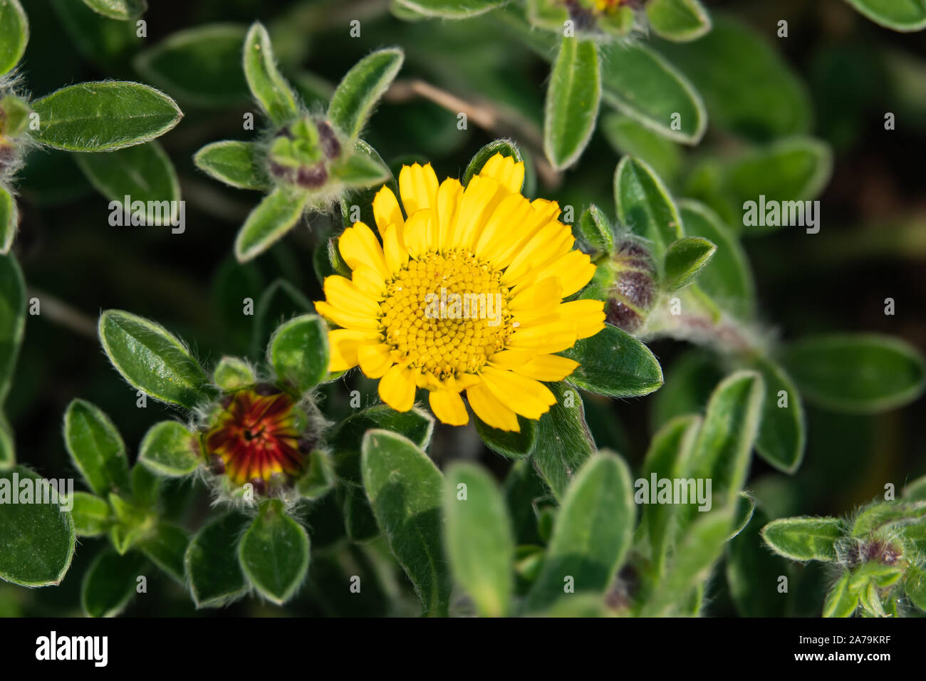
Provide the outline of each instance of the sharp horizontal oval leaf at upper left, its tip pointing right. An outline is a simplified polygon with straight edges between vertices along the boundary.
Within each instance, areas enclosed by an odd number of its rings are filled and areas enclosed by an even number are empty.
[[[115,151],[160,137],[183,114],[168,95],[139,82],[81,82],[32,103],[37,142],[66,151]]]

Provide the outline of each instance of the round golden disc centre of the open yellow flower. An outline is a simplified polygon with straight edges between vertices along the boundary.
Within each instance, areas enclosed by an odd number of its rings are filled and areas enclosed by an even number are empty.
[[[514,332],[501,276],[467,250],[409,260],[380,304],[384,342],[438,379],[477,372]]]

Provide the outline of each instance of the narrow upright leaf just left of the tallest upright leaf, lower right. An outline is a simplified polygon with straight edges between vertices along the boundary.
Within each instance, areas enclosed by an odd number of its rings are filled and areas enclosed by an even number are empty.
[[[683,478],[700,428],[701,419],[694,414],[678,416],[663,425],[653,435],[646,451],[642,478],[650,486],[653,475],[656,475],[657,483],[659,480]],[[665,570],[678,512],[677,504],[645,504],[643,507],[641,527],[649,538],[650,563],[656,575],[663,574]]]

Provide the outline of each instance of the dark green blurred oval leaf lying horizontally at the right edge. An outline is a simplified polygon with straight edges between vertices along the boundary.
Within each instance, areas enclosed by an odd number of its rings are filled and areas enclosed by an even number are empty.
[[[834,411],[892,410],[926,385],[920,352],[892,336],[812,336],[785,346],[782,361],[807,400]]]

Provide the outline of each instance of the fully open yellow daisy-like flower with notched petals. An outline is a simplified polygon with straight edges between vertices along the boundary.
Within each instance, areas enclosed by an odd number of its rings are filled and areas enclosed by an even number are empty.
[[[324,281],[319,314],[332,372],[359,365],[382,401],[411,409],[429,391],[434,415],[463,425],[469,406],[488,425],[519,431],[556,403],[542,381],[579,365],[557,352],[604,328],[600,300],[563,298],[594,275],[573,249],[554,201],[520,194],[524,164],[496,154],[464,187],[438,183],[431,164],[403,166],[402,208],[388,187],[373,200],[380,239],[355,222],[338,240],[348,279]],[[382,239],[382,243],[381,243]]]

